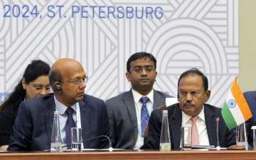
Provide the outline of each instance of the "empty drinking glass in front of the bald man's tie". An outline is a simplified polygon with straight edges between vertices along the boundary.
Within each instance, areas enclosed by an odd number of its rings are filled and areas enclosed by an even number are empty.
[[[82,128],[80,127],[72,127],[71,128],[71,151],[80,152],[82,151]]]

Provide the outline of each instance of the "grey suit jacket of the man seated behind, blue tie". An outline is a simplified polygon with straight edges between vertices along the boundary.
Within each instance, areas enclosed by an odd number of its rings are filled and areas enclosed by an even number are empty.
[[[165,104],[166,93],[154,91],[153,109]],[[119,149],[134,149],[138,135],[137,115],[132,90],[106,101],[110,120],[112,145]]]

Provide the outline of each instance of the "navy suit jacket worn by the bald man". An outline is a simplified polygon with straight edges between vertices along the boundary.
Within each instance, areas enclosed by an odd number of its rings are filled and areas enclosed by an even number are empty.
[[[85,95],[79,102],[82,138],[110,135],[104,101]],[[9,151],[39,151],[50,149],[55,103],[53,94],[23,101],[18,109],[11,135]],[[107,139],[84,142],[85,148],[105,148]]]

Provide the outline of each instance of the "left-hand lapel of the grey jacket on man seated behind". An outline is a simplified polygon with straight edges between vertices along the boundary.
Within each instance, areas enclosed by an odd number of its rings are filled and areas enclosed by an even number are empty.
[[[123,101],[125,106],[127,107],[129,118],[132,121],[132,127],[134,128],[135,137],[134,139],[137,139],[138,135],[138,122],[137,122],[137,114],[136,109],[134,105],[134,97],[132,96],[132,90],[127,92],[127,95],[123,97]]]

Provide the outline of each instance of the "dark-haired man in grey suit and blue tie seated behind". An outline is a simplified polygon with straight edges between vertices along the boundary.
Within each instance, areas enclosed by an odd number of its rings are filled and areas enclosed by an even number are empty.
[[[153,55],[137,52],[129,57],[126,77],[132,89],[106,101],[113,147],[139,149],[142,146],[151,111],[170,97],[153,89],[156,75]],[[146,98],[146,102],[142,98]],[[143,108],[146,108],[146,116]]]

